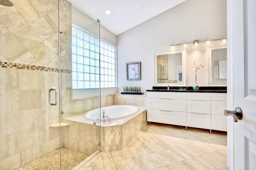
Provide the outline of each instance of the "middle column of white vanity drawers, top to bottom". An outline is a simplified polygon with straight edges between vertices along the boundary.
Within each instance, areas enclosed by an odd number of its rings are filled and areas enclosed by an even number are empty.
[[[187,93],[187,126],[211,128],[211,93]]]

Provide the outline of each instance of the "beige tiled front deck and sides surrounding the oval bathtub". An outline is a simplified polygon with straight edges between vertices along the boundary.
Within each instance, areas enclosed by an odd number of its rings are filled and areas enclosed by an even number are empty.
[[[70,124],[62,127],[63,146],[87,154],[96,150],[109,152],[123,149],[147,124],[146,108],[138,107],[138,112],[130,117],[98,122],[96,125],[93,125],[94,121],[86,120],[84,113],[62,119],[62,122]],[[101,148],[98,148],[99,142]]]

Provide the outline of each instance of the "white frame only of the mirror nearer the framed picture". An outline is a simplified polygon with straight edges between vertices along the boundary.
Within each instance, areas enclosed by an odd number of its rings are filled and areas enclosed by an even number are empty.
[[[157,55],[182,53],[182,83],[157,83]],[[186,49],[154,53],[154,86],[186,86]]]

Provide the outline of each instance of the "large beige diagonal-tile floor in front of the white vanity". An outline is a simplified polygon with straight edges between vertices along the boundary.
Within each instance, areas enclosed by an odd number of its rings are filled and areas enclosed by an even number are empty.
[[[124,148],[100,152],[79,170],[224,170],[226,132],[152,123]]]

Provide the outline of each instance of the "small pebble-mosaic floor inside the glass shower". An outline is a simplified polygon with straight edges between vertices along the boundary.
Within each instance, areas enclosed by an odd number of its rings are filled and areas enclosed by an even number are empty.
[[[62,147],[62,170],[71,170],[89,155],[82,152],[70,150]],[[1,169],[1,168],[0,168]],[[38,159],[21,166],[17,170],[59,170],[60,169],[60,149],[56,149]]]

